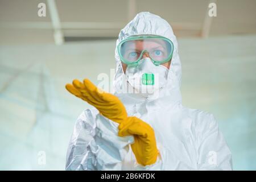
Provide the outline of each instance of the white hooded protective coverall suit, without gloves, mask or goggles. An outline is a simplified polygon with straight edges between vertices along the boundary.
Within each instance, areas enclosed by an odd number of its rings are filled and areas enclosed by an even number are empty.
[[[181,105],[181,63],[170,24],[142,12],[121,30],[117,40],[131,35],[159,35],[174,43],[167,86],[157,99],[120,93],[126,77],[115,49],[117,63],[114,94],[129,116],[147,122],[155,131],[159,156],[155,164],[141,166],[130,144],[133,137],[118,137],[118,124],[96,109],[84,110],[77,119],[67,152],[67,170],[231,170],[232,154],[212,114]],[[119,90],[119,91],[118,91]]]

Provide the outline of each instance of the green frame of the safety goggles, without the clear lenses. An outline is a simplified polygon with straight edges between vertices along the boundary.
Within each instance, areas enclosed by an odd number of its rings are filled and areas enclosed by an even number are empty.
[[[143,50],[143,51],[141,52],[141,55],[139,56],[139,58],[138,58],[136,61],[133,61],[133,62],[128,61],[128,60],[126,60],[126,59],[122,56],[122,54],[121,54],[121,46],[122,46],[123,43],[125,43],[125,42],[127,42],[127,41],[129,41],[129,40],[156,39],[156,38],[157,38],[157,39],[166,40],[167,42],[169,42],[170,45],[171,45],[171,53],[170,53],[170,55],[167,57],[167,59],[165,59],[165,60],[163,60],[163,61],[156,61],[156,60],[152,59],[151,57],[150,57],[150,59],[151,59],[152,63],[154,63],[155,65],[160,65],[160,64],[167,63],[167,62],[170,61],[171,58],[172,58],[172,53],[174,52],[174,44],[171,42],[170,39],[164,38],[163,36],[156,36],[156,35],[131,36],[131,37],[125,39],[125,40],[122,40],[122,41],[118,44],[118,46],[117,46],[117,52],[118,52],[118,55],[119,55],[121,61],[122,61],[123,63],[127,64],[127,65],[134,65],[134,66],[137,66],[138,63],[139,63],[139,61],[141,60],[143,54],[144,54],[145,52],[147,52],[147,50]]]

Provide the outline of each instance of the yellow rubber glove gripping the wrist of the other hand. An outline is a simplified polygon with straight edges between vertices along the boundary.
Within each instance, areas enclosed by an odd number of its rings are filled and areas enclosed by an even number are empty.
[[[154,130],[146,122],[137,117],[128,117],[119,124],[119,137],[134,136],[131,149],[139,164],[146,166],[154,164],[158,157]]]

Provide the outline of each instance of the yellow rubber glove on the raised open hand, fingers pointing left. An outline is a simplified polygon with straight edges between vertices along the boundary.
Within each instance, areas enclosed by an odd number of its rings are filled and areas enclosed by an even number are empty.
[[[121,123],[127,119],[125,106],[118,97],[100,90],[88,79],[85,79],[83,83],[73,80],[72,84],[66,85],[66,89],[96,107],[102,115],[114,122]]]

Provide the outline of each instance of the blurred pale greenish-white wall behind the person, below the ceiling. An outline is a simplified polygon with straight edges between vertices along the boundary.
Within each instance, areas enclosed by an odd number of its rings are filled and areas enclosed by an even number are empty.
[[[179,39],[183,104],[217,118],[234,169],[256,169],[256,36]],[[0,47],[0,169],[64,169],[77,116],[65,90],[115,68],[114,40]],[[38,152],[46,152],[46,165]]]

